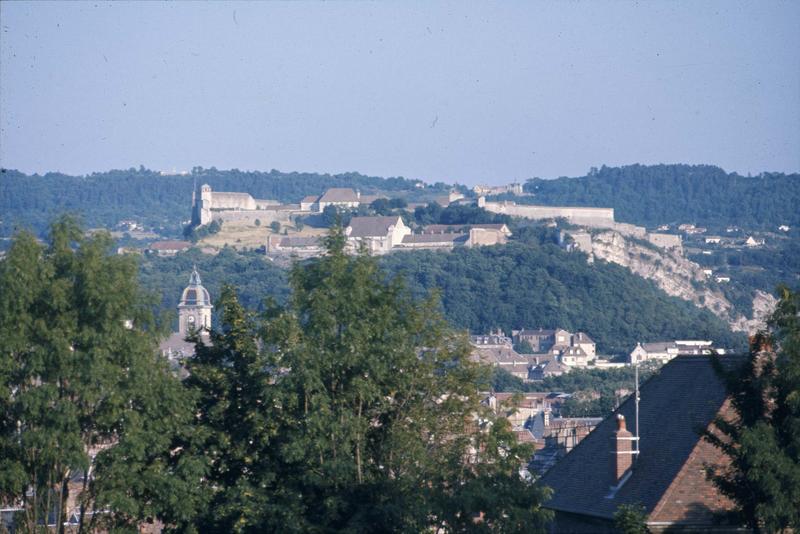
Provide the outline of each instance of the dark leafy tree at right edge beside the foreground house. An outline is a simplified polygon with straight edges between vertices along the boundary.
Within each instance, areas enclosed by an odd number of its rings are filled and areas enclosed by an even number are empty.
[[[770,332],[755,336],[741,369],[727,380],[733,417],[718,417],[705,439],[730,467],[709,476],[759,531],[800,528],[800,293],[781,289]]]

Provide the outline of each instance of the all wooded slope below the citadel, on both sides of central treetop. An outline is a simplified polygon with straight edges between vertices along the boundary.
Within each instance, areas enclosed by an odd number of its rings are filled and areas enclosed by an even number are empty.
[[[523,231],[523,241],[503,246],[392,254],[380,263],[389,276],[402,276],[417,298],[438,290],[448,321],[474,333],[495,327],[563,327],[588,333],[605,354],[627,354],[638,341],[680,338],[744,346],[743,336],[710,312],[669,297],[624,267],[589,265],[584,255],[548,243],[550,236],[543,232],[531,229],[526,236]],[[173,310],[192,264],[212,298],[223,282],[239,288],[243,303],[253,309],[265,297],[280,302],[288,294],[285,271],[262,255],[232,249],[217,256],[145,257],[142,283],[161,295],[165,309]]]

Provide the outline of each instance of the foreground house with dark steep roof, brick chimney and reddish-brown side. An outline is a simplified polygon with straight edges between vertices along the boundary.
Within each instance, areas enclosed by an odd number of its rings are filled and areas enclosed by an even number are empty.
[[[617,532],[622,505],[642,506],[651,532],[731,531],[733,503],[707,477],[727,457],[698,433],[731,415],[726,396],[710,356],[672,359],[640,388],[638,418],[630,398],[541,477],[551,532]]]

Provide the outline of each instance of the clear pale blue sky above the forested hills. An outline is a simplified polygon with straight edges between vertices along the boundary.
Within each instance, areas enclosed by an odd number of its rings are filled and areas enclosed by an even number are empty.
[[[0,165],[800,170],[800,2],[0,2]]]

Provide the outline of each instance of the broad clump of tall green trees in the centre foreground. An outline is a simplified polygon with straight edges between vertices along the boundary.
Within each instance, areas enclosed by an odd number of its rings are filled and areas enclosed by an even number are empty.
[[[187,381],[213,459],[198,528],[542,530],[546,492],[519,474],[531,451],[480,405],[466,339],[344,245],[335,226],[260,324],[225,294]]]

